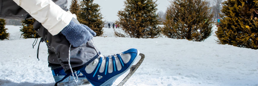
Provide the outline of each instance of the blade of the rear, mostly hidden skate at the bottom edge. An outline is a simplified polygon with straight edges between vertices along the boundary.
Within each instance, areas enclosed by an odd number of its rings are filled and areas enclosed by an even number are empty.
[[[62,82],[58,83],[57,86],[77,86],[77,85],[88,85],[90,82],[87,79],[78,80],[77,83],[75,83],[74,80],[69,82]]]

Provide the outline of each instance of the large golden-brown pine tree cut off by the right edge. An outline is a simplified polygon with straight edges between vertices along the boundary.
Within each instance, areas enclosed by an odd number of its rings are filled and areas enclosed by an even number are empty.
[[[216,36],[218,44],[258,49],[258,1],[227,0]]]

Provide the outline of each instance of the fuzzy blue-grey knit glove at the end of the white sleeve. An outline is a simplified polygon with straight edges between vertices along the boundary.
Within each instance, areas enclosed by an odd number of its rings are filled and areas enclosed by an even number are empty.
[[[93,35],[85,27],[75,23],[73,20],[68,26],[63,28],[61,33],[66,36],[66,39],[73,45],[79,47],[93,38]]]

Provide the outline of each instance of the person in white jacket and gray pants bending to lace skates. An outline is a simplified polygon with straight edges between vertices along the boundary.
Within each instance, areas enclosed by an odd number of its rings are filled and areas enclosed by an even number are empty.
[[[78,22],[67,9],[67,0],[1,0],[0,5],[0,18],[36,19],[33,28],[47,44],[55,85],[77,74],[95,86],[112,85],[139,55],[137,49],[101,55],[92,42],[96,33]]]

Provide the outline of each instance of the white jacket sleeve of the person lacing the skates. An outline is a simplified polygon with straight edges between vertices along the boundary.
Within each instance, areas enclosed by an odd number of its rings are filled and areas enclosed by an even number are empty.
[[[66,12],[51,0],[13,0],[32,17],[42,23],[52,35],[63,30],[76,15]]]

